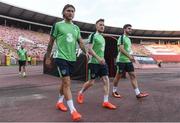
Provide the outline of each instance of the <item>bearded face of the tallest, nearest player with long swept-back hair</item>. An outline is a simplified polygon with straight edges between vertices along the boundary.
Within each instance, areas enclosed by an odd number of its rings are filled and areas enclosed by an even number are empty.
[[[74,12],[75,10],[72,7],[67,8],[64,11],[64,18],[67,20],[72,20],[74,18]]]

